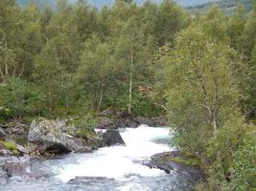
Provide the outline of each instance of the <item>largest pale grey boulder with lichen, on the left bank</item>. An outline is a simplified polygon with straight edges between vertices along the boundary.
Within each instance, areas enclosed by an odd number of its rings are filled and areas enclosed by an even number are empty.
[[[91,148],[84,146],[81,138],[64,133],[61,129],[56,120],[34,120],[28,135],[29,147],[32,151],[53,154],[91,151]]]

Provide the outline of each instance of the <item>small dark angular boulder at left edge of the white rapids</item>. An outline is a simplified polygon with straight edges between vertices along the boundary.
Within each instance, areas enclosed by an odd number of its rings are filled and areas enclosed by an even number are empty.
[[[103,138],[105,140],[105,144],[107,146],[112,146],[112,145],[125,145],[124,139],[121,137],[120,133],[115,130],[106,130]]]

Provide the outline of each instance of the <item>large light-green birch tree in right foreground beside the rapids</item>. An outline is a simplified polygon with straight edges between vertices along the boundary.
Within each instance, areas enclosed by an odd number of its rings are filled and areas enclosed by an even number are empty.
[[[240,95],[232,74],[233,51],[209,39],[199,27],[189,27],[179,33],[175,50],[162,58],[171,121],[190,138],[215,136],[225,120],[236,114]]]

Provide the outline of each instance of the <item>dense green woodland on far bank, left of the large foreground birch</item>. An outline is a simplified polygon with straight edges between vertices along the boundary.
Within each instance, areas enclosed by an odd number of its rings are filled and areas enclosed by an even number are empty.
[[[77,116],[113,108],[158,116],[142,95],[152,87],[158,47],[173,43],[188,14],[166,1],[137,7],[125,1],[100,11],[84,1],[58,9],[1,2],[0,106],[12,117]]]

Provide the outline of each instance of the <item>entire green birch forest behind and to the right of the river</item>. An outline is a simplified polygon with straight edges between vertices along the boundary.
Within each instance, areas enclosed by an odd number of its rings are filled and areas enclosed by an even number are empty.
[[[172,0],[80,0],[57,9],[0,0],[0,123],[107,110],[168,117],[195,156],[196,190],[256,189],[256,1],[192,14]]]

